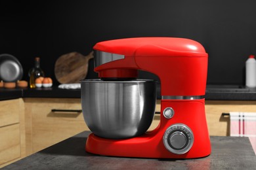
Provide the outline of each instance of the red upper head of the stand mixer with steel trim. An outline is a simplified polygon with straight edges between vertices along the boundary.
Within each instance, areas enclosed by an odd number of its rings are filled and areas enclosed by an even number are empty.
[[[129,80],[138,70],[157,75],[162,96],[204,95],[207,53],[190,39],[142,37],[98,42],[95,71],[103,80]]]

